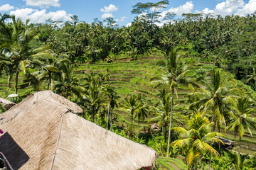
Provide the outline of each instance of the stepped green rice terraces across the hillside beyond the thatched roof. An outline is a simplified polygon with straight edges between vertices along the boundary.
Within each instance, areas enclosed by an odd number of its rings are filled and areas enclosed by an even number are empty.
[[[112,74],[109,82],[112,84],[112,86],[115,86],[117,88],[117,93],[119,94],[121,99],[124,99],[128,94],[141,93],[146,96],[146,100],[148,101],[149,106],[154,106],[158,101],[157,94],[159,92],[154,89],[153,86],[151,86],[149,79],[160,74],[158,67],[155,66],[156,62],[158,62],[159,60],[164,60],[164,58],[149,55],[149,57],[142,57],[139,58],[139,60],[137,61],[117,60],[116,62],[112,63],[78,64],[78,69],[75,72],[75,75],[77,77],[84,77],[85,74],[90,71],[104,73],[105,70],[108,68],[110,69],[110,72]],[[196,64],[195,69],[202,68],[206,69],[207,72],[207,70],[210,70],[213,67],[215,66],[210,63],[199,63]],[[193,77],[193,74],[188,76]],[[14,94],[14,79],[12,79],[13,81],[11,81],[11,89],[9,89],[6,86],[7,77],[0,77],[0,97],[6,98],[8,94]],[[18,84],[22,84],[22,75],[19,76],[18,79]],[[238,84],[241,89],[244,89],[244,91],[256,101],[255,91],[252,91],[248,86],[245,86],[240,81],[238,81]],[[31,88],[19,89],[18,94],[20,94],[21,96],[27,96],[31,93],[31,91]],[[189,93],[190,91],[186,86],[179,86],[178,98],[174,99],[175,104],[178,104],[178,106],[175,108],[176,111],[182,111],[188,106],[187,96]],[[118,125],[131,124],[131,118],[122,108],[115,109],[114,116],[117,118],[115,120]],[[153,115],[149,115],[148,118],[146,118],[145,120],[141,120],[140,123],[139,120],[135,118],[134,124],[140,124],[142,130],[146,131],[149,125],[156,123],[154,121],[151,121],[149,123],[149,120],[153,117]],[[224,130],[221,130],[221,132],[223,133],[223,135],[225,135],[226,138],[230,140],[235,140],[235,147],[238,146],[238,137],[235,138],[233,132],[225,132]],[[252,132],[253,136],[256,137],[256,131],[252,130]],[[242,138],[242,152],[248,154],[256,152],[256,141],[250,137],[249,133],[246,133],[245,137]]]

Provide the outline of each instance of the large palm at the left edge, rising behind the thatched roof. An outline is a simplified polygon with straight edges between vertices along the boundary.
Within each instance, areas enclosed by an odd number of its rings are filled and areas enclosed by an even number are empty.
[[[9,65],[8,86],[11,86],[11,78],[15,73],[15,94],[18,93],[18,73],[21,69],[25,70],[26,62],[29,60],[28,43],[36,35],[36,30],[28,29],[28,20],[23,25],[21,19],[11,16],[11,27],[4,21],[0,21],[0,51],[11,61],[11,65]]]

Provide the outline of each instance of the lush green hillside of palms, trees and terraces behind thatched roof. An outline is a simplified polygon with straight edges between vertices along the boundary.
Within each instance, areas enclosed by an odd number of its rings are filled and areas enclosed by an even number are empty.
[[[132,13],[165,4],[138,3]],[[159,169],[255,167],[255,13],[169,13],[161,27],[157,10],[129,27],[0,17],[1,97],[50,89],[83,118],[155,149]]]

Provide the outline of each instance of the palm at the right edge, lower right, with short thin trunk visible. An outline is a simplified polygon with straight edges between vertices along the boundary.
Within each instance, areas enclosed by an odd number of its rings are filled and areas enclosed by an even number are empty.
[[[239,154],[240,154],[240,145],[241,138],[245,135],[245,129],[250,133],[252,137],[252,132],[250,128],[254,128],[256,130],[256,118],[254,118],[251,113],[255,111],[252,108],[252,102],[250,98],[238,98],[235,102],[235,106],[233,107],[233,116],[230,120],[230,125],[226,128],[226,130],[234,130],[235,135],[239,132]]]

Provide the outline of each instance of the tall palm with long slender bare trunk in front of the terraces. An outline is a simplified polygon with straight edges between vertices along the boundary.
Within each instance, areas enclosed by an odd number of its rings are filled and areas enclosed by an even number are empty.
[[[174,93],[178,98],[178,84],[186,81],[185,74],[188,72],[188,64],[185,65],[182,60],[181,55],[177,55],[176,50],[171,50],[169,55],[167,56],[165,52],[163,52],[167,63],[162,63],[167,72],[163,70],[164,74],[161,77],[154,77],[151,79],[151,84],[154,84],[154,87],[160,86],[161,84],[166,84],[169,86],[171,90],[171,112],[170,112],[170,123],[169,123],[169,134],[168,134],[168,145],[167,145],[167,157],[169,157],[169,144],[171,141],[171,120],[173,114],[174,107]]]

